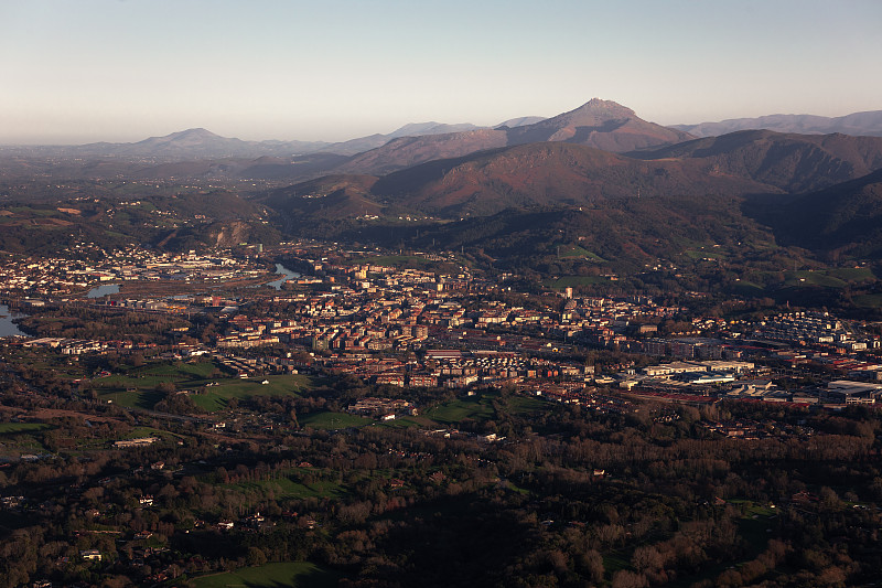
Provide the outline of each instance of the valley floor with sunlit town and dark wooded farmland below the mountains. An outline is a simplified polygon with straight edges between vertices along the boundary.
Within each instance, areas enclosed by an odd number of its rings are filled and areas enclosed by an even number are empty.
[[[426,564],[369,562],[459,517],[488,557],[545,554],[506,582],[727,584],[731,554],[757,578],[821,521],[865,544],[882,516],[872,321],[305,238],[4,255],[10,586],[412,585]]]

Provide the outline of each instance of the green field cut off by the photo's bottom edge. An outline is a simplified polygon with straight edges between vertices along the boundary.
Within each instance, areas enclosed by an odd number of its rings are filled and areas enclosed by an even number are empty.
[[[193,578],[196,588],[332,588],[336,587],[342,574],[323,569],[309,562],[267,564]]]

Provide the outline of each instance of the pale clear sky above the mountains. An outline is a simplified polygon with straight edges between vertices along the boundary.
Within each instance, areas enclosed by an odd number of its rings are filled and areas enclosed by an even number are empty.
[[[879,0],[0,0],[0,145],[882,109]]]

